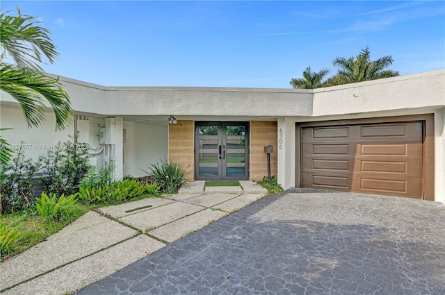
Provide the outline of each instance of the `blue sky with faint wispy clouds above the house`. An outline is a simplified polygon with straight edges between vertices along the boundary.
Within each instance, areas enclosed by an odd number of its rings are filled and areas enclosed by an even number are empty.
[[[111,86],[290,88],[337,56],[445,68],[444,1],[5,1],[39,17],[60,57],[44,70]]]

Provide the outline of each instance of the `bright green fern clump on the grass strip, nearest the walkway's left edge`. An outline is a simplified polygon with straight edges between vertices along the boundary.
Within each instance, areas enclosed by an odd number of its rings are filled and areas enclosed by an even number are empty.
[[[60,198],[57,198],[56,194],[52,194],[51,198],[44,192],[40,198],[36,198],[36,208],[40,217],[47,220],[60,220],[65,217],[70,217],[76,209],[74,205],[77,203],[77,195],[72,194],[65,198],[65,194],[62,194]]]

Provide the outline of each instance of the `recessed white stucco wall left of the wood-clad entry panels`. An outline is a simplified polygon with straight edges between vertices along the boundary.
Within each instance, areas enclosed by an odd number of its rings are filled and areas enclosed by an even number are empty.
[[[124,121],[124,175],[147,175],[151,165],[168,155],[168,127]]]

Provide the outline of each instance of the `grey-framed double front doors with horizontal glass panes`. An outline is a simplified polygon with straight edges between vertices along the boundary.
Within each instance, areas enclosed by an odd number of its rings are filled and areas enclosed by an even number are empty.
[[[195,122],[195,179],[248,180],[248,122]]]

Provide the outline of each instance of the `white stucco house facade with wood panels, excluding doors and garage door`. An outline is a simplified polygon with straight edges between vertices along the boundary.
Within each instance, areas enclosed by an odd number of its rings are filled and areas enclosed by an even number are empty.
[[[398,76],[316,90],[218,87],[105,87],[59,80],[76,118],[55,132],[51,110],[40,128],[28,129],[17,103],[1,92],[0,127],[10,144],[24,141],[35,158],[44,146],[69,140],[78,130],[92,146],[93,165],[104,163],[102,146],[113,146],[116,176],[143,176],[160,158],[183,163],[193,180],[195,121],[249,122],[249,178],[267,174],[264,146],[272,144],[271,172],[287,189],[298,186],[298,124],[432,114],[435,201],[445,201],[445,71]],[[170,115],[178,124],[168,125]],[[113,117],[114,119],[107,119]],[[102,130],[113,134],[100,141]]]

